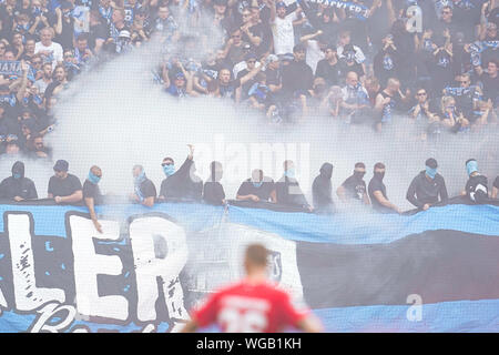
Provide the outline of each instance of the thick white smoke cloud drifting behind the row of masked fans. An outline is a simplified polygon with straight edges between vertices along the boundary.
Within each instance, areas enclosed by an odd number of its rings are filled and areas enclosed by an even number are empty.
[[[189,143],[196,146],[196,174],[203,180],[208,176],[212,160],[223,163],[222,183],[228,199],[235,197],[253,169],[262,168],[265,175],[278,180],[284,159],[295,161],[297,179],[309,199],[312,181],[324,162],[335,166],[334,190],[352,174],[356,162],[366,163],[366,182],[373,165],[384,162],[388,197],[403,209],[411,207],[405,200],[407,186],[430,156],[439,162],[450,195],[464,187],[465,161],[469,158],[476,158],[490,178],[498,172],[498,132],[492,129],[441,134],[438,142],[429,143],[415,139],[407,118],[397,118],[380,134],[369,126],[349,126],[320,116],[274,126],[227,101],[172,99],[152,81],[151,70],[160,58],[154,48],[144,45],[79,77],[55,108],[59,123],[51,135],[53,159],[68,160],[70,171],[82,180],[91,165],[100,165],[104,192],[131,192],[134,164],[142,164],[159,187],[164,179],[162,159],[172,156],[180,166]],[[50,174],[49,169],[43,174]],[[32,168],[29,173],[37,175]],[[48,178],[33,178],[40,195],[44,195]]]

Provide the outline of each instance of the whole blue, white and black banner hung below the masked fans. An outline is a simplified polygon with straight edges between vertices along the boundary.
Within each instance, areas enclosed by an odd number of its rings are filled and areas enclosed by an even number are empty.
[[[175,332],[247,244],[328,332],[498,332],[499,207],[315,215],[192,203],[0,204],[0,332]],[[206,329],[210,331],[210,329]]]

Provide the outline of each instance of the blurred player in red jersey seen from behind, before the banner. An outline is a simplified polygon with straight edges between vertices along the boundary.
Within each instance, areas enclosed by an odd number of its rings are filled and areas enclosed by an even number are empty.
[[[192,314],[182,332],[216,323],[226,333],[276,333],[286,326],[322,332],[309,310],[297,310],[289,295],[267,281],[267,250],[261,244],[246,248],[246,277],[212,295]]]

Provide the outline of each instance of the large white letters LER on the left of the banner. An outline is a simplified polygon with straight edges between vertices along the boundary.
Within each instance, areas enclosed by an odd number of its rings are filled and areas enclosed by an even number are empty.
[[[118,221],[101,220],[104,233],[100,234],[88,215],[69,213],[68,235],[48,241],[34,235],[31,213],[9,212],[4,221],[8,243],[3,244],[10,245],[11,271],[1,272],[4,277],[0,280],[10,287],[0,287],[0,312],[34,314],[34,322],[24,331],[62,332],[84,321],[134,323],[143,325],[144,332],[167,322],[169,331],[175,331],[189,320],[179,277],[189,254],[185,232],[167,217],[135,216],[123,235]],[[64,257],[63,263],[60,257]],[[70,271],[70,278],[63,276],[64,271]],[[128,284],[119,294],[116,290],[126,277]],[[47,280],[52,287],[40,286]],[[57,283],[61,288],[53,287]],[[157,301],[164,306],[155,306]],[[160,315],[156,308],[164,312]],[[88,332],[89,327],[78,325],[74,329]]]

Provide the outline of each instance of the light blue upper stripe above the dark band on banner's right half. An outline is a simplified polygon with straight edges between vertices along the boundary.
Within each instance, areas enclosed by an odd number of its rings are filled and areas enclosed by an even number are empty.
[[[294,241],[375,244],[391,243],[425,231],[451,230],[499,236],[499,207],[452,204],[415,215],[282,213],[231,206],[230,221],[252,225]]]

